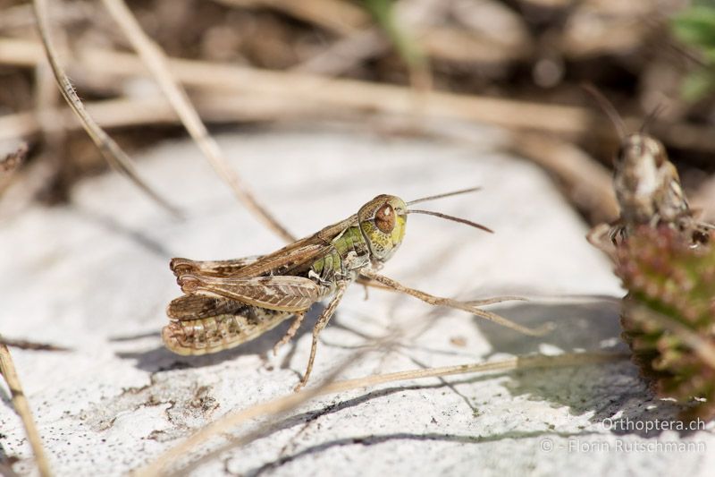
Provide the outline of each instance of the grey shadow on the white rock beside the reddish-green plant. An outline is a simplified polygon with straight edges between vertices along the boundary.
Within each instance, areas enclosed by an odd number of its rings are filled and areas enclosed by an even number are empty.
[[[580,351],[625,352],[620,339],[619,301],[600,299],[588,302],[553,304],[527,302],[499,311],[509,319],[530,328],[554,324],[546,336],[521,336],[476,319],[475,325],[496,353],[523,355],[544,351],[545,346],[566,353]],[[527,396],[568,406],[569,413],[593,413],[589,419],[614,434],[635,434],[655,438],[662,422],[677,422],[682,407],[653,395],[648,383],[629,361],[608,365],[584,365],[569,368],[513,371],[505,384],[512,396]],[[681,436],[692,433],[679,430]]]

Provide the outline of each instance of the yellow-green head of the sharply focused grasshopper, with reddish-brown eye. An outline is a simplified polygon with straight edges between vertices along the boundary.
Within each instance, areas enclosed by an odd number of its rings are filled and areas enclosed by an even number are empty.
[[[390,260],[400,247],[408,206],[394,195],[378,195],[357,211],[357,223],[374,260]]]

